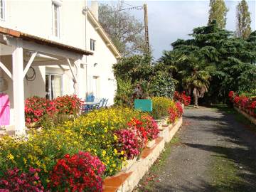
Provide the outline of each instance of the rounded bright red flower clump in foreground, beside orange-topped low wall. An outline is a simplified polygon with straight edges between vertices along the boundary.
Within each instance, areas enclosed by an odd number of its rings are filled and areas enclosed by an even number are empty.
[[[102,191],[105,165],[97,156],[80,151],[59,159],[50,174],[49,186],[57,191]]]

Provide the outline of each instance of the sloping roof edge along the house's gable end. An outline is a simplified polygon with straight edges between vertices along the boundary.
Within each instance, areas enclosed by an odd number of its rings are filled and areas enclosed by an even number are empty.
[[[97,28],[97,31],[100,33],[102,38],[104,38],[105,43],[110,48],[110,50],[112,51],[114,56],[116,58],[121,58],[121,53],[119,53],[119,50],[117,50],[116,46],[114,46],[114,43],[112,43],[110,37],[107,35],[107,32],[104,30],[104,28],[102,28],[102,26],[100,25],[100,22],[97,21],[97,19],[95,18],[95,16],[92,14],[92,12],[89,9],[87,9],[87,16],[90,18],[92,23],[95,25],[95,28]]]

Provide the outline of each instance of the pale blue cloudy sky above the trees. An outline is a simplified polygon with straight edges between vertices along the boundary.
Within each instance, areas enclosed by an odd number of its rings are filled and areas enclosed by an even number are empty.
[[[225,1],[229,11],[226,29],[235,31],[236,6],[239,1]],[[106,3],[106,1],[105,1]],[[109,3],[109,2],[107,2]],[[155,59],[161,57],[163,50],[171,50],[171,43],[178,38],[190,38],[193,28],[208,23],[209,0],[172,1],[124,1],[125,8],[147,4],[149,16],[149,43]],[[129,4],[129,5],[128,5]],[[256,0],[247,0],[251,13],[251,28],[256,30]],[[129,11],[137,19],[144,21],[143,10]]]

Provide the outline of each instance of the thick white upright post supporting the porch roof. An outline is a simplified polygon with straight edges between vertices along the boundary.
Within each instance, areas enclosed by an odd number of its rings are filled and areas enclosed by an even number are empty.
[[[22,42],[16,40],[12,53],[13,90],[14,90],[14,126],[15,134],[25,134],[24,83],[23,83],[23,48]]]

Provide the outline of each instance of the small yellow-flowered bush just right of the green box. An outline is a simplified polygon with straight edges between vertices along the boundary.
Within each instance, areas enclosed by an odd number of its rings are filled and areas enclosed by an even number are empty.
[[[152,97],[153,111],[151,112],[154,119],[159,119],[161,117],[167,117],[169,115],[169,108],[174,107],[174,100],[166,97]]]

